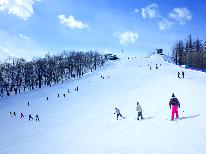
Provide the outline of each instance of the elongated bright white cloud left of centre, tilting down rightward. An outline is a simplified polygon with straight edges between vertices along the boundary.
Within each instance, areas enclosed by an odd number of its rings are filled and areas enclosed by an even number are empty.
[[[66,25],[71,29],[83,29],[88,27],[87,24],[83,23],[82,21],[77,21],[72,15],[70,15],[68,18],[64,15],[59,15],[58,18],[61,24]]]

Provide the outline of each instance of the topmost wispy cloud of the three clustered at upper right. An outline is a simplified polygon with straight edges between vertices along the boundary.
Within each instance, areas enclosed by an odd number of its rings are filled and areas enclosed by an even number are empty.
[[[159,16],[158,5],[153,3],[145,8],[142,8],[143,18],[155,18]]]

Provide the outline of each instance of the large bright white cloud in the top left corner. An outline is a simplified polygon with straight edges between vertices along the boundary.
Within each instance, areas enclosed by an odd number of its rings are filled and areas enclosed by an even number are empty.
[[[29,19],[34,14],[34,2],[41,0],[0,0],[0,11],[16,15],[23,20]]]

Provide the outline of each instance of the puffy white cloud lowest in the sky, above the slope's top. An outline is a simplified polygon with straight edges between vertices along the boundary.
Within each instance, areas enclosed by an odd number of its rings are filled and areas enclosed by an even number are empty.
[[[138,33],[126,31],[123,33],[115,33],[114,36],[120,39],[120,43],[127,45],[128,43],[135,43],[139,37]]]

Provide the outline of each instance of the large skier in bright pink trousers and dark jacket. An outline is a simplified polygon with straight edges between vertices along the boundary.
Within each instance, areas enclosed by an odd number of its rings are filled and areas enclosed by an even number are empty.
[[[170,99],[169,106],[170,106],[170,109],[172,106],[171,120],[174,120],[174,114],[176,114],[176,118],[179,118],[178,107],[180,108],[180,103],[179,103],[178,99],[175,97],[174,93],[172,94],[172,98]]]

